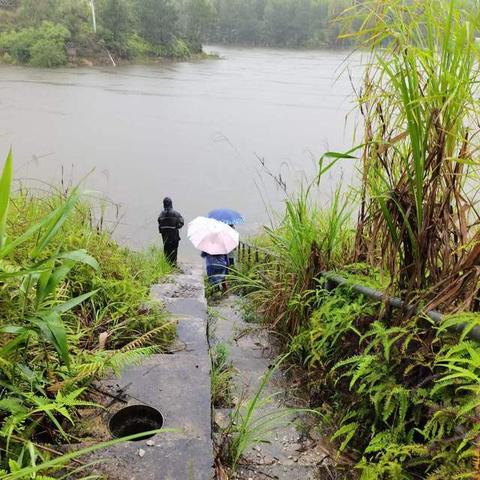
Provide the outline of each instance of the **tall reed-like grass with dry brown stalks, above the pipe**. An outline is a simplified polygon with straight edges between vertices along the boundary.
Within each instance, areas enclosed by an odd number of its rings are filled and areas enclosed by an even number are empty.
[[[467,8],[468,7],[468,8]],[[479,278],[479,18],[460,0],[373,0],[349,12],[372,49],[357,257],[388,268],[401,290],[471,306]],[[450,293],[446,291],[447,285]]]

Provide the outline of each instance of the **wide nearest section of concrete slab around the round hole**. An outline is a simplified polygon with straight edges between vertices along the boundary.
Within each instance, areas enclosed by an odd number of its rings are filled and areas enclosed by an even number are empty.
[[[126,442],[95,454],[95,471],[112,479],[208,480],[213,451],[210,420],[210,361],[205,355],[154,355],[126,369],[119,378],[104,380],[102,389],[122,389],[128,405],[159,410],[166,432],[147,440]],[[149,442],[151,443],[151,442]],[[145,455],[139,455],[139,449]]]

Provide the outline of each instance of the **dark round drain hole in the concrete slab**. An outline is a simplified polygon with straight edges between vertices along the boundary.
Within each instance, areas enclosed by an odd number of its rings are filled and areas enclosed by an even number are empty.
[[[108,422],[110,432],[115,438],[128,437],[136,433],[158,430],[163,426],[162,414],[148,405],[130,405],[119,410]],[[135,441],[151,438],[147,435]]]

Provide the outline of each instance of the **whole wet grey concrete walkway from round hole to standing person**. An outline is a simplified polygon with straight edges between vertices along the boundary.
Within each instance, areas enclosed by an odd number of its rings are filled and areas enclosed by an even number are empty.
[[[169,296],[172,295],[172,296]],[[144,404],[164,418],[164,429],[148,440],[125,442],[93,455],[95,472],[112,480],[209,480],[213,478],[210,359],[203,272],[185,273],[152,287],[152,297],[178,319],[174,354],[153,355],[100,382],[104,391],[123,392],[122,405]]]

